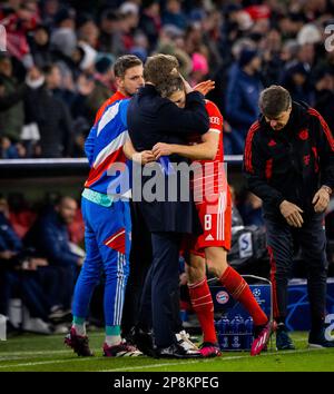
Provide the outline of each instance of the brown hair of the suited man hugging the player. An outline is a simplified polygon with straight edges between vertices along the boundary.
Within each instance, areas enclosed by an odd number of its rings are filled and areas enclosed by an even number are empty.
[[[163,83],[174,69],[178,70],[179,63],[175,56],[157,53],[150,56],[144,67],[144,79],[155,86]]]

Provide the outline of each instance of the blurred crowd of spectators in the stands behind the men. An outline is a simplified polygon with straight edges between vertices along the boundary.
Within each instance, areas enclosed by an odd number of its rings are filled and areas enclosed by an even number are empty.
[[[9,0],[0,23],[1,158],[85,156],[124,53],[173,53],[191,85],[214,79],[225,154],[243,152],[272,83],[334,126],[333,0]]]

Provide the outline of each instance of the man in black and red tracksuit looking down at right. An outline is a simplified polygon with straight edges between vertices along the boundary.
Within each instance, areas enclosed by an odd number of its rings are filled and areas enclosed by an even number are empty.
[[[324,211],[334,188],[334,139],[322,116],[292,101],[279,86],[259,98],[262,117],[249,129],[244,171],[250,191],[263,199],[272,265],[276,346],[294,345],[285,327],[287,280],[293,242],[297,240],[308,268],[308,298],[313,347],[332,347],[324,335],[327,260]]]

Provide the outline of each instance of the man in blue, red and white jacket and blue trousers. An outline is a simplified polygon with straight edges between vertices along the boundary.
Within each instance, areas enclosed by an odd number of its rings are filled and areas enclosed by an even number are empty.
[[[65,339],[80,356],[92,355],[85,319],[101,273],[106,276],[104,355],[139,353],[121,341],[120,323],[129,275],[131,237],[131,185],[124,152],[129,140],[126,115],[128,98],[144,85],[143,63],[136,56],[122,56],[114,65],[114,72],[118,90],[99,109],[85,144],[90,166],[81,200],[87,255],[75,288],[72,327]]]

